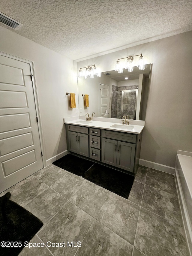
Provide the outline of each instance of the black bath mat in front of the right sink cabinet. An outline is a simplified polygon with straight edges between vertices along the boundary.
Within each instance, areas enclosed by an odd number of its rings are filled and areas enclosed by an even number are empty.
[[[134,176],[101,164],[94,164],[82,177],[128,199]]]

